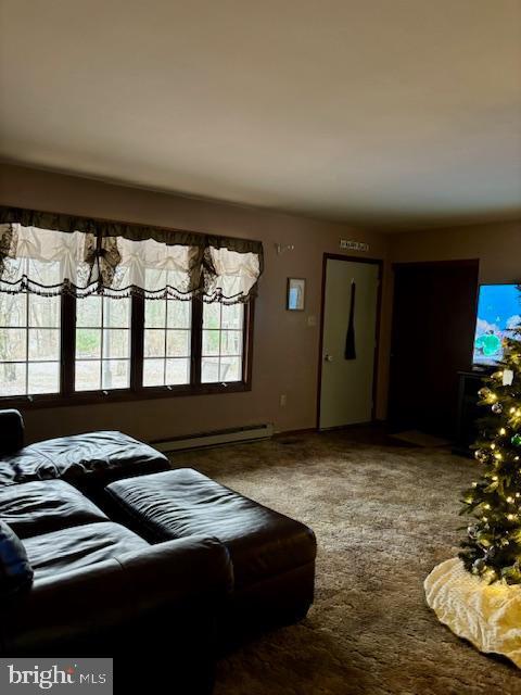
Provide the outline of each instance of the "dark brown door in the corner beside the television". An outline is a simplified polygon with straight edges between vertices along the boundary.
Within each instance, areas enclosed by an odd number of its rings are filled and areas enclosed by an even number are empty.
[[[469,369],[478,261],[394,266],[389,420],[453,438],[458,370]]]

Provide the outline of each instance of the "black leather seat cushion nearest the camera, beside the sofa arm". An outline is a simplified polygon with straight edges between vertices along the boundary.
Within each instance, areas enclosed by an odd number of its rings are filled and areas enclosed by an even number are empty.
[[[24,545],[38,580],[150,547],[139,535],[112,521],[36,535],[25,539]]]

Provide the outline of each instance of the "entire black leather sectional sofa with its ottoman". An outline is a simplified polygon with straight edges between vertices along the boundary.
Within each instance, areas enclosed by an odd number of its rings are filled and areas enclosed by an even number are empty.
[[[0,412],[0,655],[123,657],[148,688],[164,662],[207,693],[217,644],[307,612],[304,525],[119,432],[23,439]]]

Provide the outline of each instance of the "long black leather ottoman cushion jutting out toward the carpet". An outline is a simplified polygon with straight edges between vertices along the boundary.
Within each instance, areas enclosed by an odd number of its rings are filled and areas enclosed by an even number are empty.
[[[236,587],[313,563],[313,531],[190,468],[106,489],[129,525],[150,540],[215,536],[231,556]]]

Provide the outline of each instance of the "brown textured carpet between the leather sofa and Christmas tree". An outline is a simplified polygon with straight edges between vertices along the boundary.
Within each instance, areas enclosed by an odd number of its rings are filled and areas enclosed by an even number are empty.
[[[454,556],[476,465],[378,433],[288,437],[171,455],[309,525],[316,601],[300,624],[218,665],[215,695],[516,695],[521,673],[457,639],[422,582]]]

